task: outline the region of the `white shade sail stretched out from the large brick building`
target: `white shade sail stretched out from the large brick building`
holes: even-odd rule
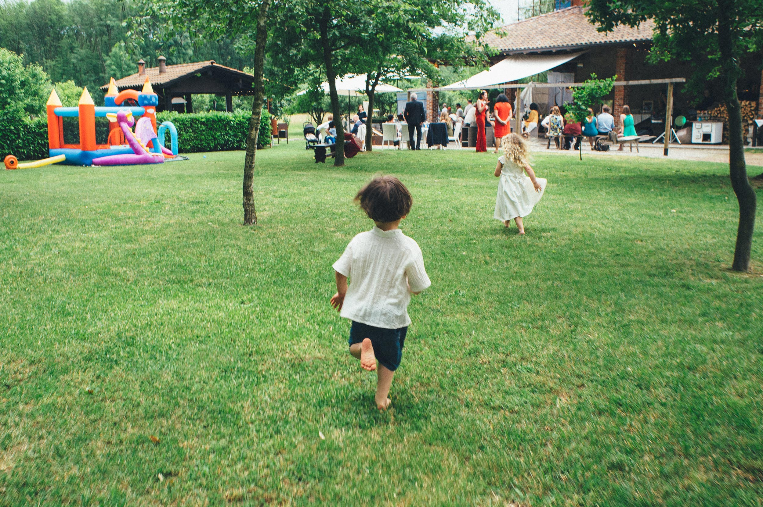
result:
[[[510,55],[500,62],[483,70],[471,78],[455,82],[452,85],[443,86],[441,90],[476,90],[492,85],[502,85],[507,82],[517,81],[530,75],[553,69],[567,63],[573,58],[581,56],[580,53],[567,53],[564,55]]]

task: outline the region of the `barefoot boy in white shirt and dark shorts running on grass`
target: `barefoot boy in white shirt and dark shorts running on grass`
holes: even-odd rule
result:
[[[331,306],[353,321],[349,353],[360,366],[374,371],[379,361],[376,406],[385,410],[392,403],[387,395],[410,325],[410,294],[419,294],[432,283],[419,245],[398,229],[413,204],[405,185],[391,176],[374,178],[355,200],[376,225],[355,236],[334,262],[336,294]]]

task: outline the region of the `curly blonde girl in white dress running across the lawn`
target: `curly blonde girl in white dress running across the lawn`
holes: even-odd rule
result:
[[[514,219],[521,235],[524,234],[522,218],[529,215],[543,197],[546,179],[535,177],[533,168],[527,162],[527,145],[521,136],[511,133],[504,137],[501,146],[504,156],[498,158],[498,165],[495,166],[495,177],[501,179],[498,180],[493,217],[507,227]]]

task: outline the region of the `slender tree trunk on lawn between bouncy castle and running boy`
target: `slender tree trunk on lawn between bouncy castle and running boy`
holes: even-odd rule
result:
[[[257,211],[254,207],[254,158],[257,154],[257,138],[259,136],[259,120],[262,117],[262,98],[265,95],[265,84],[262,75],[265,69],[265,45],[268,41],[268,9],[272,0],[262,0],[257,14],[256,47],[254,50],[254,100],[252,101],[252,116],[249,119],[249,136],[246,137],[246,157],[243,162],[243,224],[245,226],[257,223]]]

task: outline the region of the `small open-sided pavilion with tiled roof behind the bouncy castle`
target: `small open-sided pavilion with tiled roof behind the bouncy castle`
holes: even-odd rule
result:
[[[233,95],[253,95],[254,76],[231,67],[218,65],[214,60],[195,63],[166,65],[166,59],[159,56],[159,66],[146,69],[143,60],[138,62],[138,72],[116,81],[117,88],[140,90],[146,78],[159,95],[159,104],[172,109],[172,98],[185,96],[185,110],[192,111],[192,94],[225,95],[227,109],[232,111]],[[106,90],[108,84],[101,86]]]

